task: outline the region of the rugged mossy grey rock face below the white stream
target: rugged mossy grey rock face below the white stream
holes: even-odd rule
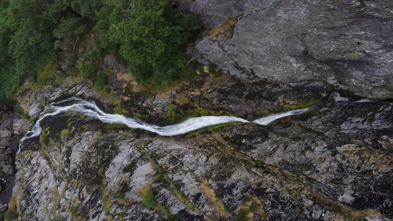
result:
[[[51,140],[29,140],[17,158],[18,211],[26,221],[387,221],[392,108],[328,102],[270,126],[174,137],[49,116]]]

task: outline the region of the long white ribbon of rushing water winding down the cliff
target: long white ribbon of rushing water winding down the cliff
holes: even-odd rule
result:
[[[60,105],[61,103],[65,103],[68,101],[74,101],[75,103],[67,106],[57,106]],[[40,127],[40,122],[42,119],[44,119],[46,116],[54,116],[56,114],[65,113],[65,112],[67,114],[81,113],[86,116],[90,116],[92,118],[101,120],[102,122],[105,123],[110,123],[110,124],[119,123],[119,124],[126,125],[129,128],[144,129],[147,131],[157,133],[161,136],[173,136],[178,134],[185,134],[190,131],[195,131],[197,129],[201,129],[204,127],[209,127],[211,125],[217,125],[221,123],[244,122],[244,123],[258,123],[261,125],[268,125],[269,123],[279,118],[290,116],[290,115],[301,114],[310,109],[312,108],[291,110],[283,113],[272,114],[270,116],[266,116],[254,120],[253,122],[249,122],[242,118],[237,118],[233,116],[202,116],[197,118],[190,118],[182,123],[178,123],[175,125],[159,127],[153,124],[141,122],[138,118],[126,118],[125,116],[120,114],[107,114],[103,112],[101,109],[99,109],[97,105],[95,105],[94,101],[85,101],[78,98],[69,98],[63,101],[59,101],[57,103],[50,103],[45,107],[44,111],[40,114],[40,118],[35,123],[33,129],[29,131],[22,139],[20,139],[18,153],[23,147],[22,143],[24,142],[24,140],[35,136],[39,136],[41,134],[42,130]]]

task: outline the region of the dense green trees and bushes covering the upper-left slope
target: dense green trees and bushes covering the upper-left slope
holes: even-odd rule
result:
[[[25,77],[44,84],[59,61],[96,89],[107,84],[99,65],[107,53],[142,84],[187,78],[195,65],[185,44],[201,22],[167,0],[1,0],[0,11],[0,103],[12,101]],[[92,53],[78,55],[93,33]]]

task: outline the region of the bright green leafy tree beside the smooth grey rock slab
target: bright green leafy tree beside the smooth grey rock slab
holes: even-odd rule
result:
[[[180,76],[189,62],[181,48],[188,32],[200,28],[200,23],[172,13],[167,0],[125,2],[130,4],[105,1],[99,11],[95,29],[100,31],[101,46],[119,45],[138,82],[162,84]]]

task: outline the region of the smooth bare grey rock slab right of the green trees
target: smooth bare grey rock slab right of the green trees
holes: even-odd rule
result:
[[[209,28],[239,16],[231,39],[219,28],[196,45],[195,58],[242,81],[314,79],[369,98],[393,98],[390,0],[172,2]]]

